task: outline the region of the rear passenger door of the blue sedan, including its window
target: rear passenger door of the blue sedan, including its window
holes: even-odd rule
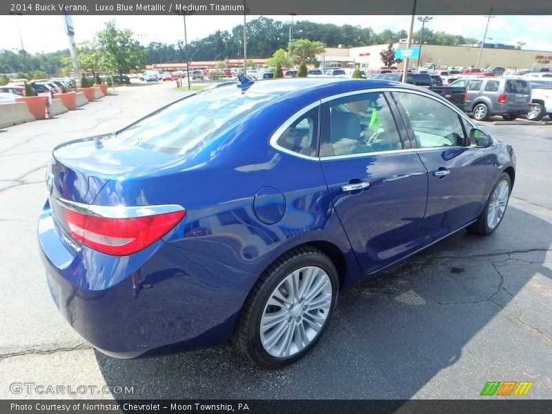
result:
[[[355,92],[322,106],[322,171],[366,273],[415,248],[426,208],[426,169],[389,98]]]

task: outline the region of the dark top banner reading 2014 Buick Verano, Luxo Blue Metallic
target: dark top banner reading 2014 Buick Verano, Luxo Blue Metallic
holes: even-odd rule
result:
[[[2,0],[0,14],[409,15],[413,0]],[[417,14],[548,15],[550,0],[417,0]]]

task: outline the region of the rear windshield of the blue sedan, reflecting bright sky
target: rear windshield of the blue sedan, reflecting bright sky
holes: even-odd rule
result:
[[[274,98],[273,95],[243,93],[235,86],[200,92],[119,131],[116,139],[172,154],[195,152]]]

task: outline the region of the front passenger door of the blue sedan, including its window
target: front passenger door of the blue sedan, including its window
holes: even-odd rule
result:
[[[426,170],[428,200],[417,243],[462,228],[482,210],[488,164],[471,147],[462,116],[446,103],[416,92],[393,92]]]

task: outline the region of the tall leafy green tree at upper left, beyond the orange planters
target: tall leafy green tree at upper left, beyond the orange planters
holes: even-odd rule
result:
[[[97,33],[102,68],[117,72],[121,78],[125,72],[141,68],[146,62],[146,51],[137,40],[132,39],[132,34],[129,29],[117,29],[112,20],[107,21],[106,28]]]

